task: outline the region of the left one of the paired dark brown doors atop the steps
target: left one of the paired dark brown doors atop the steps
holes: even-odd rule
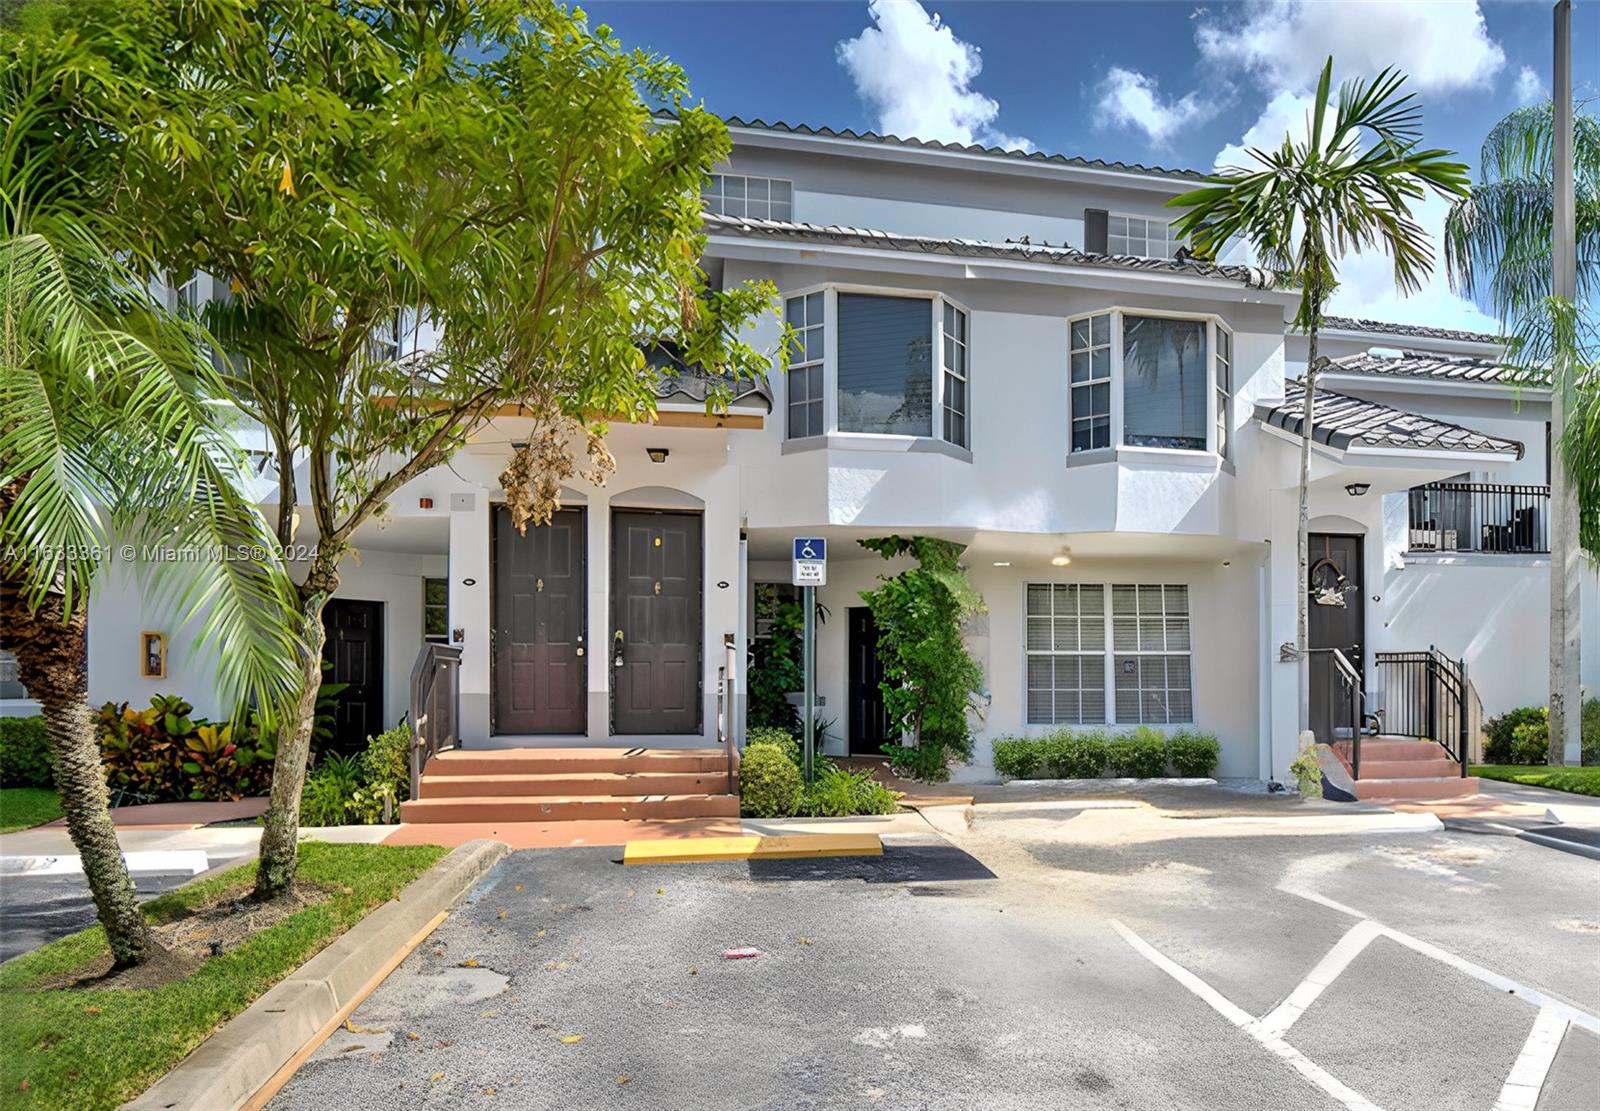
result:
[[[494,732],[582,733],[584,511],[518,533],[494,511]]]

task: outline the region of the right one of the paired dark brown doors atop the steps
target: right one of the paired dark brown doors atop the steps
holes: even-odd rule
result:
[[[611,732],[698,733],[701,519],[611,519]]]

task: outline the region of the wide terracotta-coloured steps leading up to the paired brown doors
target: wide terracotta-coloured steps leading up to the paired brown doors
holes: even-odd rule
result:
[[[453,749],[422,768],[406,823],[738,818],[722,749]]]

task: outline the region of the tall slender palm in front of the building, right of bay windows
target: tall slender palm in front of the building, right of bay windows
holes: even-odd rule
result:
[[[1382,251],[1394,261],[1395,285],[1403,293],[1419,290],[1432,272],[1434,251],[1411,205],[1429,192],[1451,197],[1467,191],[1467,166],[1453,162],[1453,152],[1421,146],[1422,107],[1414,93],[1402,93],[1403,74],[1386,69],[1371,82],[1341,83],[1330,118],[1331,82],[1333,58],[1322,67],[1306,139],[1285,134],[1274,150],[1253,149],[1254,168],[1227,166],[1168,202],[1187,210],[1176,231],[1198,256],[1216,258],[1227,242],[1243,239],[1262,266],[1301,288],[1294,315],[1307,338],[1296,634],[1301,732],[1310,722],[1307,487],[1323,307],[1338,288],[1339,263],[1352,251]]]

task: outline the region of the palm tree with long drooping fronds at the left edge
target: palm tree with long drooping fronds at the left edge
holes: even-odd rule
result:
[[[88,594],[126,544],[211,552],[157,564],[152,591],[178,623],[200,618],[197,650],[218,660],[219,687],[269,717],[294,677],[291,596],[238,493],[242,459],[211,403],[221,387],[202,335],[162,309],[91,218],[30,200],[27,170],[0,166],[0,629],[43,711],[67,831],[126,967],[155,941],[107,810]]]

